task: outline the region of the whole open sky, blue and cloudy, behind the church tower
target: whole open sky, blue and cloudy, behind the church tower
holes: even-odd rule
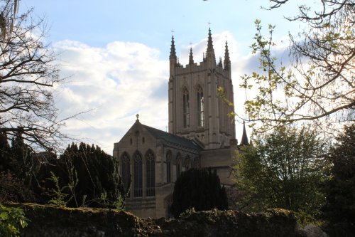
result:
[[[261,6],[268,6],[267,0],[21,0],[20,11],[33,6],[35,16],[48,23],[47,40],[58,53],[61,76],[68,77],[55,88],[60,116],[90,110],[68,120],[64,132],[111,154],[136,113],[142,123],[160,130],[168,124],[172,30],[182,64],[187,64],[190,46],[195,62],[202,60],[209,26],[217,58],[223,56],[224,41],[229,42],[236,112],[242,113],[240,76],[258,70],[250,48],[253,22],[276,25],[278,56],[287,60],[288,32],[300,31],[297,23],[283,18],[297,13],[292,4],[266,11]],[[236,128],[241,139],[241,124]]]

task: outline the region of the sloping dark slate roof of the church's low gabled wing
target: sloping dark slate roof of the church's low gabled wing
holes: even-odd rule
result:
[[[171,142],[173,144],[178,144],[182,147],[187,147],[190,149],[195,149],[197,151],[202,150],[202,148],[194,141],[190,140],[190,139],[186,139],[184,137],[179,137],[177,135],[173,135],[169,132],[164,132],[162,130],[157,130],[154,127],[149,127],[147,125],[142,125],[144,128],[146,128],[146,130],[148,130],[148,132],[151,133],[151,135],[153,135],[153,137],[155,137],[156,139],[164,139],[166,142]]]

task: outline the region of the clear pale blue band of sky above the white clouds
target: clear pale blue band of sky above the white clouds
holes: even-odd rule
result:
[[[213,33],[231,32],[241,51],[248,51],[253,21],[277,25],[276,36],[285,36],[294,25],[283,16],[293,16],[296,7],[266,11],[261,6],[269,6],[267,0],[21,0],[21,5],[33,6],[38,16],[46,17],[51,41],[70,39],[99,47],[111,41],[139,42],[159,48],[162,59],[172,30],[177,46],[184,46],[204,38],[209,22]]]

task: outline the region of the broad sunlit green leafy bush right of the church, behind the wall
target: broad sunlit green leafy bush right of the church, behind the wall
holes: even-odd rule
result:
[[[241,149],[236,167],[240,209],[283,208],[319,214],[324,204],[324,142],[306,127],[280,127]]]

